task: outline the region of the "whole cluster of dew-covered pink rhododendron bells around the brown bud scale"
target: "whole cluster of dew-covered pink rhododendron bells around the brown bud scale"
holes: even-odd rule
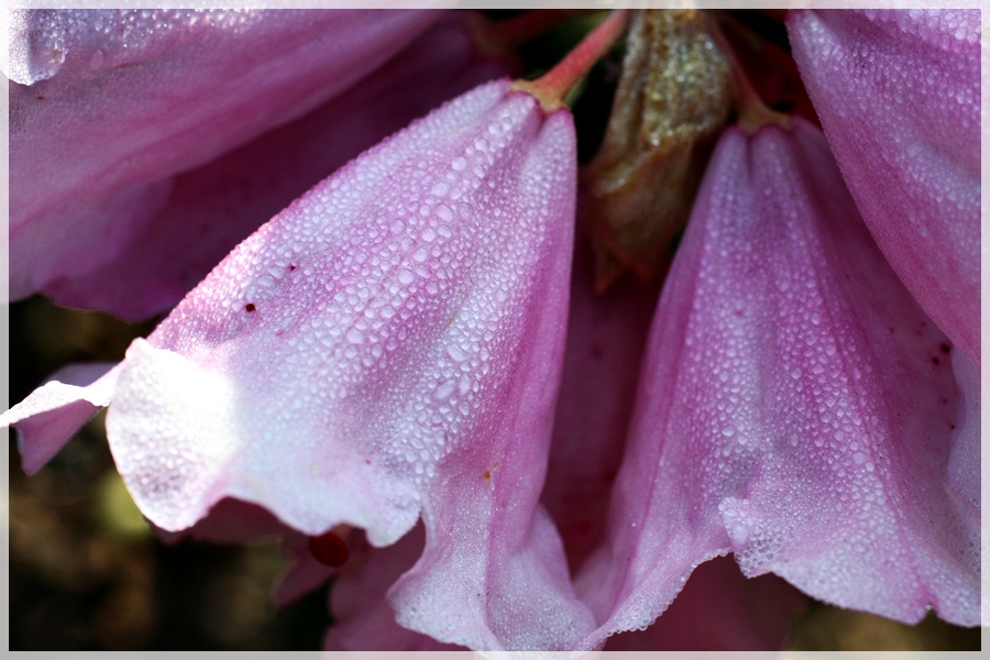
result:
[[[280,535],[296,558],[280,602],[337,575],[330,649],[773,648],[794,587],[980,623],[978,14],[791,12],[824,133],[768,110],[717,22],[692,14],[732,63],[736,125],[672,261],[647,264],[662,284],[602,296],[563,98],[625,12],[539,80],[480,85],[322,180],[504,64],[446,19],[372,73],[436,16],[319,15],[151,14],[167,29],[113,75],[129,50],[92,44],[130,32],[56,12],[18,42],[33,64],[12,75],[34,84],[13,86],[16,295],[139,318],[205,275],[121,363],[66,367],[0,416],[28,471],[109,405],[117,466],[164,539]],[[264,47],[249,57],[244,34]],[[442,35],[459,36],[437,62]],[[309,79],[344,45],[387,52]],[[107,153],[64,177],[34,155],[79,128],[50,96],[92,94],[99,116],[114,76],[155,90],[206,51],[176,109],[128,107]],[[196,102],[229,67],[270,87]],[[396,125],[359,129],[396,94]],[[231,108],[251,121],[226,125]],[[73,248],[90,252],[69,263]]]

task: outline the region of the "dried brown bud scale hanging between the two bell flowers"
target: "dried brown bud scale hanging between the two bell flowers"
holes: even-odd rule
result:
[[[695,10],[636,14],[598,155],[585,173],[597,286],[654,277],[729,117],[729,65]]]

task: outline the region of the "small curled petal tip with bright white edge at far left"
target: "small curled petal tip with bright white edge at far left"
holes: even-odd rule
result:
[[[119,373],[116,363],[69,364],[0,415],[0,428],[12,426],[18,430],[24,472],[34,474],[41,470],[110,403]]]

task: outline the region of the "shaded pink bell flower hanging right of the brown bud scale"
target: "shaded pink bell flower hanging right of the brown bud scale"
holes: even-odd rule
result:
[[[979,518],[944,486],[948,350],[824,135],[727,131],[653,321],[608,543],[578,578],[602,624],[582,647],[728,551],[840,606],[976,625]]]

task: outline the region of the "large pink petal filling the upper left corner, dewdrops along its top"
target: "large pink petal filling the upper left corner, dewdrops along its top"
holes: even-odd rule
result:
[[[11,296],[106,265],[164,207],[169,177],[343,91],[437,15],[13,12]]]

